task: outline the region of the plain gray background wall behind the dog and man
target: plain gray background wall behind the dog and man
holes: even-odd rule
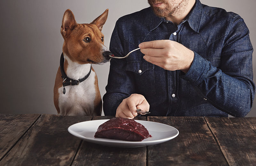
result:
[[[256,48],[255,0],[201,2],[236,12],[244,18],[252,45]],[[147,0],[1,0],[0,113],[57,114],[53,104],[53,86],[63,44],[61,20],[66,9],[73,11],[77,23],[89,23],[108,8],[108,20],[102,30],[108,47],[116,20],[148,6]],[[109,63],[93,67],[102,97]],[[256,102],[247,116],[256,116]]]

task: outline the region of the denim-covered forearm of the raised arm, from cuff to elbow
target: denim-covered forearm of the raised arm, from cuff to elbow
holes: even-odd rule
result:
[[[189,81],[202,98],[232,116],[244,117],[252,108],[252,76],[229,76],[195,53],[191,70],[181,78]]]

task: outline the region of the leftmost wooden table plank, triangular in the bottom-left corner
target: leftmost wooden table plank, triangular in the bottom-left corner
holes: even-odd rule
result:
[[[0,161],[35,123],[40,114],[0,114]]]

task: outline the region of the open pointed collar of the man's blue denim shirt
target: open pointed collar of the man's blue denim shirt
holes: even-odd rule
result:
[[[150,8],[150,14],[151,16],[151,27],[149,27],[150,31],[153,31],[156,29],[163,21],[165,21],[164,18],[160,18],[156,16]],[[199,32],[199,27],[200,27],[200,20],[201,20],[201,15],[202,15],[202,4],[199,0],[196,0],[195,5],[193,6],[192,10],[189,12],[187,18],[185,20],[188,21],[189,26],[195,31]]]

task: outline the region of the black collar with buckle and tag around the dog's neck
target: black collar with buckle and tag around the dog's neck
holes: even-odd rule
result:
[[[84,76],[84,78],[81,78],[79,80],[74,80],[74,79],[68,78],[68,76],[66,75],[66,73],[64,71],[64,55],[62,53],[60,56],[60,71],[61,71],[61,77],[63,79],[63,82],[62,82],[63,87],[68,86],[68,85],[78,85],[79,83],[83,82],[84,80],[86,80],[89,77],[89,75],[91,74],[91,71],[92,71],[92,65],[91,65],[89,73],[86,76]],[[64,93],[64,90],[63,90],[63,93]]]

